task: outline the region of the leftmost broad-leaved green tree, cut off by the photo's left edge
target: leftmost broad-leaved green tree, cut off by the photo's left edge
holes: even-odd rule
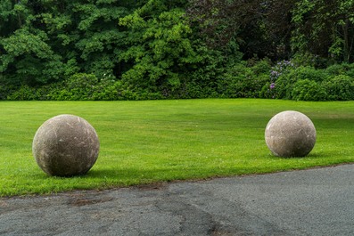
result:
[[[12,84],[46,83],[58,79],[64,68],[61,56],[52,50],[46,32],[34,27],[37,15],[30,6],[35,3],[7,1],[1,4],[5,10],[2,21],[9,24],[1,28],[0,72]]]

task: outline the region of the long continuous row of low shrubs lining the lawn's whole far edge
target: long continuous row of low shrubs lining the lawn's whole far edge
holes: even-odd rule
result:
[[[203,74],[202,72],[208,73]],[[8,86],[0,81],[0,100],[157,100],[193,98],[268,98],[296,101],[354,100],[354,64],[327,69],[296,68],[292,61],[235,63],[180,75],[178,85],[138,88],[113,76],[97,78],[75,74],[62,82],[43,86]]]

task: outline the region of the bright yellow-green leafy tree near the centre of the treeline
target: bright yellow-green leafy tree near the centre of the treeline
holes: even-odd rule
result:
[[[119,54],[119,60],[132,65],[122,80],[132,90],[174,91],[185,72],[202,61],[193,47],[183,5],[184,1],[149,0],[120,19],[119,25],[128,28],[128,37],[127,51]]]

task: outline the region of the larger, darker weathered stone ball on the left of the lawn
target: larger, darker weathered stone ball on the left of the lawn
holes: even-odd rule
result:
[[[84,175],[98,158],[100,143],[95,128],[84,118],[59,115],[37,130],[32,152],[47,175]]]

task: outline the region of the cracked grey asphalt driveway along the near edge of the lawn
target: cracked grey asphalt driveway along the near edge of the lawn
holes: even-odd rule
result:
[[[1,235],[354,235],[354,165],[0,199]]]

